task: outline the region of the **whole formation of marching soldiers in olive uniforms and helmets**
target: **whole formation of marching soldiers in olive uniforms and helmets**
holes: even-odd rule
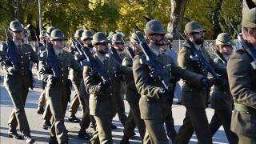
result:
[[[8,122],[9,136],[35,142],[24,110],[29,88],[33,88],[30,63],[34,62],[38,63],[42,82],[38,114],[43,114],[42,127],[50,130],[50,144],[68,143],[64,117],[72,86],[75,94],[68,120],[79,122],[78,138],[90,139],[90,143],[113,143],[111,130],[116,126],[112,119],[118,114],[124,126],[120,143],[129,143],[137,127],[143,143],[169,143],[170,138],[174,144],[187,144],[195,132],[198,143],[210,144],[223,126],[231,144],[256,144],[255,15],[256,8],[243,14],[244,35],[238,38],[238,50],[233,50],[234,41],[229,34],[218,35],[216,59],[203,45],[206,30],[198,22],[188,22],[178,63],[167,54],[171,41],[155,19],[146,23],[144,34],[134,30],[130,46],[121,33],[110,38],[102,32],[77,30],[70,38],[70,48],[64,49],[64,34],[50,27],[40,34],[38,52],[24,43],[22,24],[10,22],[13,38],[6,39],[0,47],[7,52],[1,55],[1,66],[6,71],[4,83],[14,105]],[[208,73],[213,78],[208,78]],[[180,78],[184,82],[182,105],[186,107],[186,117],[176,132],[171,107],[174,86]],[[210,106],[214,116],[209,123],[206,95],[213,85]],[[124,95],[130,106],[128,116]],[[80,105],[81,121],[75,116]],[[89,127],[94,129],[92,135],[86,133]]]

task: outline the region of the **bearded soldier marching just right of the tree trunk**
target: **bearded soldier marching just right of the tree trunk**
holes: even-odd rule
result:
[[[214,63],[210,55],[203,47],[205,29],[192,21],[186,24],[185,33],[187,36],[186,43],[178,54],[178,64],[185,70],[202,74],[207,77],[208,72],[198,64],[198,60],[194,60],[194,51],[198,50],[198,54],[202,56],[205,62],[213,66],[214,70],[220,75],[226,74],[226,69]],[[199,56],[200,56],[199,55]],[[198,56],[198,57],[199,57]],[[214,80],[215,85],[222,83],[222,79]],[[182,88],[182,105],[186,106],[186,117],[183,120],[183,125],[178,130],[178,134],[174,140],[176,144],[185,144],[190,142],[190,138],[195,131],[199,143],[212,143],[210,128],[206,117],[206,88],[198,88],[196,85],[191,85],[190,82],[185,82]]]

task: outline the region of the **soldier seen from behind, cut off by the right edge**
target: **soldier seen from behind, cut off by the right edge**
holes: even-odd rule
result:
[[[238,143],[256,143],[256,8],[242,15],[245,44],[227,63],[230,91],[234,99],[231,130]],[[248,53],[247,51],[250,51]]]

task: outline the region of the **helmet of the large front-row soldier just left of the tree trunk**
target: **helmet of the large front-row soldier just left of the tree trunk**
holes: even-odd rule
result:
[[[145,34],[166,34],[166,30],[162,27],[161,22],[156,19],[146,22],[144,32]]]

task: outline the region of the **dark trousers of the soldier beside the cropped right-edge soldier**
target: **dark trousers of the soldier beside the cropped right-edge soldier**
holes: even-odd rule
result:
[[[231,110],[215,110],[214,116],[210,121],[210,132],[213,136],[218,131],[218,128],[223,126],[230,144],[237,144],[238,136],[230,130],[231,115]]]

